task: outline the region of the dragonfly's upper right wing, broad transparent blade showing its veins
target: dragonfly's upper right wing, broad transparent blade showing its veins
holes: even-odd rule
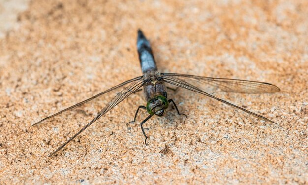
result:
[[[225,92],[238,92],[238,93],[274,93],[279,92],[280,89],[272,84],[266,82],[256,82],[248,80],[237,80],[228,78],[212,78],[203,76],[194,76],[188,74],[177,73],[162,73],[164,76],[173,76],[178,79],[185,80],[197,87],[204,88],[204,85],[214,86]]]

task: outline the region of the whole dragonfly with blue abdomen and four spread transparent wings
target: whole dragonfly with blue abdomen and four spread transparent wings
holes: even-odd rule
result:
[[[280,89],[272,85],[270,83],[266,82],[257,82],[257,81],[248,81],[248,80],[238,80],[238,79],[229,79],[229,78],[212,78],[212,77],[203,77],[203,76],[195,76],[195,75],[189,75],[189,74],[178,74],[178,73],[161,73],[158,72],[156,62],[154,60],[154,55],[150,46],[149,40],[145,37],[143,32],[138,29],[138,36],[137,36],[137,50],[139,55],[139,61],[141,64],[141,70],[143,75],[135,77],[133,79],[127,80],[119,85],[116,85],[104,92],[101,92],[99,94],[96,94],[84,101],[81,101],[73,106],[70,106],[66,109],[63,109],[60,112],[57,112],[51,116],[48,116],[41,121],[34,123],[32,126],[37,125],[39,123],[42,123],[50,118],[53,118],[65,111],[74,109],[76,107],[79,107],[97,97],[102,96],[103,94],[106,94],[107,92],[111,92],[113,90],[122,88],[120,92],[116,94],[115,97],[113,97],[107,105],[101,109],[101,111],[95,116],[91,122],[87,123],[84,127],[82,127],[76,134],[74,134],[72,137],[70,137],[67,141],[65,141],[61,146],[59,146],[54,152],[49,154],[49,156],[53,156],[57,152],[59,152],[63,147],[65,147],[69,142],[71,142],[74,138],[76,138],[80,133],[82,133],[85,129],[87,129],[92,123],[96,122],[98,119],[100,119],[102,116],[104,116],[107,112],[109,112],[111,109],[113,109],[115,106],[117,106],[119,103],[121,103],[124,99],[126,99],[128,96],[130,96],[132,93],[138,92],[143,89],[144,97],[147,102],[146,106],[140,105],[137,108],[137,111],[134,116],[134,120],[130,123],[134,123],[136,121],[137,114],[140,109],[144,109],[147,111],[148,116],[140,123],[140,127],[142,130],[142,133],[145,137],[145,144],[147,145],[147,139],[148,136],[146,135],[143,125],[146,123],[150,118],[153,116],[163,116],[169,107],[169,105],[172,103],[174,105],[174,108],[176,109],[177,113],[179,115],[184,115],[179,112],[179,109],[173,99],[168,99],[167,96],[167,89],[168,85],[176,86],[177,88],[184,88],[187,90],[190,90],[192,92],[197,92],[199,94],[202,94],[206,97],[215,99],[217,101],[220,101],[226,105],[229,105],[233,108],[240,109],[258,119],[275,123],[274,121],[261,116],[259,114],[256,114],[254,112],[251,112],[249,110],[246,110],[243,107],[237,106],[235,104],[232,104],[228,101],[225,101],[223,99],[220,99],[205,90],[201,87],[201,85],[210,85],[215,88],[218,88],[224,92],[237,92],[237,93],[274,93],[279,92]],[[172,89],[172,88],[170,88]],[[275,123],[277,124],[277,123]],[[277,124],[278,125],[278,124]]]

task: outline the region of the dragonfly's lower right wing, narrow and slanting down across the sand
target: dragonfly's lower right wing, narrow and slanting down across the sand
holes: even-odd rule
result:
[[[272,120],[269,120],[269,119],[267,119],[267,118],[265,118],[265,117],[263,117],[263,116],[261,116],[261,115],[258,115],[258,114],[256,114],[256,113],[253,113],[253,112],[251,112],[251,111],[248,111],[248,110],[246,110],[246,109],[244,109],[244,108],[242,108],[242,107],[239,107],[239,106],[234,105],[234,104],[232,104],[232,103],[229,103],[229,102],[227,102],[227,101],[225,101],[225,100],[223,100],[223,99],[217,98],[216,96],[213,96],[213,95],[211,95],[211,94],[209,94],[209,93],[207,93],[207,92],[204,92],[204,91],[202,91],[201,89],[199,89],[198,87],[193,86],[193,85],[191,85],[191,84],[185,82],[184,80],[181,80],[181,79],[179,79],[179,78],[177,78],[177,77],[175,77],[175,76],[163,76],[162,79],[163,79],[163,81],[165,81],[165,82],[167,82],[167,83],[170,83],[170,84],[173,84],[173,85],[176,85],[176,86],[179,86],[179,87],[188,89],[188,90],[193,91],[193,92],[198,92],[198,93],[203,94],[203,95],[205,95],[205,96],[208,96],[208,97],[210,97],[210,98],[216,99],[217,101],[220,101],[220,102],[222,102],[222,103],[225,103],[225,104],[227,104],[227,105],[229,105],[229,106],[231,106],[231,107],[240,109],[240,110],[242,110],[242,111],[244,111],[244,112],[246,112],[246,113],[248,113],[248,114],[250,114],[250,115],[252,115],[252,116],[254,116],[254,117],[256,117],[256,118],[259,118],[259,119],[262,119],[262,120],[264,120],[264,121],[268,121],[268,122],[271,122],[271,123],[275,123],[275,122],[273,122]],[[275,123],[275,124],[277,124],[277,123]],[[278,125],[278,124],[277,124],[277,125]]]

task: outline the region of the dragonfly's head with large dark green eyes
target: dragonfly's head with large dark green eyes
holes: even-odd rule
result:
[[[168,108],[169,102],[165,96],[158,95],[150,99],[147,103],[147,111],[151,115],[163,116]]]

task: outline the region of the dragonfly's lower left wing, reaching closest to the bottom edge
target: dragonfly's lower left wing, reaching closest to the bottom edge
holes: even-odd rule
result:
[[[137,91],[144,85],[144,80],[139,79],[137,82],[130,84],[128,87],[124,88],[121,92],[119,92],[99,113],[98,115],[88,124],[86,124],[81,130],[79,130],[75,135],[73,135],[70,139],[68,139],[65,143],[63,143],[57,150],[51,153],[49,156],[56,154],[59,150],[61,150],[65,145],[67,145],[70,141],[72,141],[75,137],[77,137],[81,132],[87,129],[92,123],[122,102],[125,98],[127,98],[130,94]]]

